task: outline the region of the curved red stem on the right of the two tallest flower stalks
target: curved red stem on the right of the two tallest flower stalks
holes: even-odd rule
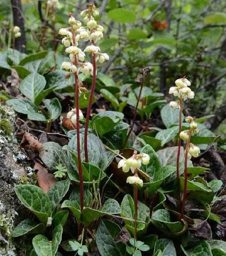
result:
[[[91,18],[91,10],[92,10],[92,4],[89,5],[89,20]],[[93,32],[93,30],[90,30],[90,34]],[[94,40],[92,40],[92,44],[95,45]],[[95,91],[95,84],[96,84],[96,54],[92,54],[92,64],[93,64],[93,79],[92,79],[92,86],[91,91],[89,95],[89,105],[86,113],[86,120],[85,120],[85,131],[84,131],[84,150],[85,150],[85,162],[88,163],[89,156],[88,156],[88,146],[87,146],[87,137],[88,137],[88,129],[89,129],[89,116],[93,104],[93,95]]]

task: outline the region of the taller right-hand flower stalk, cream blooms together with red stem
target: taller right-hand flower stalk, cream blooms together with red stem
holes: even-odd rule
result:
[[[179,130],[178,134],[181,132],[182,128],[182,110],[183,110],[183,100],[186,101],[187,98],[193,99],[194,92],[188,87],[191,85],[190,81],[186,77],[179,78],[175,81],[176,86],[172,86],[169,89],[169,94],[173,94],[175,97],[178,97],[178,101],[170,101],[170,107],[173,109],[179,108]],[[180,147],[181,147],[181,138],[178,138],[178,153],[177,153],[177,185],[179,193],[179,157],[180,157]]]

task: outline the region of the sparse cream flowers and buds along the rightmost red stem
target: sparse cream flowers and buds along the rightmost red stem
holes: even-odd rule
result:
[[[193,117],[191,116],[186,117],[185,122],[190,124],[190,130],[181,131],[179,136],[182,140],[187,141],[189,139],[190,132],[197,134],[199,130],[197,128],[197,123],[195,122],[195,119]],[[191,159],[191,156],[198,157],[199,154],[200,154],[199,147],[195,146],[192,143],[189,143],[188,159]]]

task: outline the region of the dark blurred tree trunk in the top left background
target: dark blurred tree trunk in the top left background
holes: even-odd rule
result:
[[[15,49],[24,53],[26,50],[26,36],[24,31],[24,15],[21,0],[11,0],[13,23],[20,28],[21,36],[15,38]]]

